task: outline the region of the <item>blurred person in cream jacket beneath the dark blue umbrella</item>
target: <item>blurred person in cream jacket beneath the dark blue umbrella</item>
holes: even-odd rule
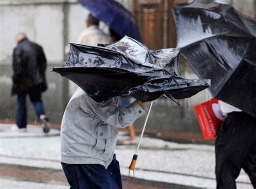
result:
[[[78,44],[97,46],[98,43],[111,43],[111,37],[99,29],[98,19],[91,14],[87,17],[86,26],[87,28],[78,36]]]

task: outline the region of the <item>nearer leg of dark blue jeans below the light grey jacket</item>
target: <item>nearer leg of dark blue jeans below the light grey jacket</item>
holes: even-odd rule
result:
[[[112,189],[103,165],[62,163],[62,168],[70,184],[70,189]]]

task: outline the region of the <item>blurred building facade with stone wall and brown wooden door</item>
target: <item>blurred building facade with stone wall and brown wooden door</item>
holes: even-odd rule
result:
[[[174,48],[176,33],[171,6],[190,3],[190,0],[122,0],[130,10],[142,31],[143,43],[150,50]],[[255,17],[256,1],[228,0],[234,8],[245,15]],[[75,85],[55,72],[53,66],[65,64],[64,46],[76,43],[78,34],[86,27],[89,11],[75,0],[1,0],[0,1],[0,119],[14,122],[16,119],[16,97],[10,96],[12,76],[12,50],[15,35],[25,32],[28,38],[42,45],[48,60],[46,78],[49,89],[43,93],[43,102],[50,122],[60,124],[66,104]],[[100,28],[108,31],[100,23]],[[197,79],[193,71],[180,59],[180,70],[186,78]],[[76,86],[75,86],[76,87]],[[206,100],[206,90],[189,99],[180,100],[181,107],[171,100],[158,99],[153,105],[147,133],[159,137],[179,138],[190,133],[190,141],[203,141],[193,106]],[[37,123],[36,114],[28,100],[29,122]],[[136,130],[143,126],[145,117],[136,121]]]

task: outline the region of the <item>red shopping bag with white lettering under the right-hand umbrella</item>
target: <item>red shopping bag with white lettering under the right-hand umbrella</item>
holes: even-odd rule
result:
[[[224,120],[218,101],[212,98],[207,102],[194,106],[201,131],[206,140],[217,136],[219,126]]]

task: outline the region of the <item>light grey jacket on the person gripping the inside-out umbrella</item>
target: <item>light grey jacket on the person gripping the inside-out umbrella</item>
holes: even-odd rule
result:
[[[66,106],[62,119],[61,161],[109,166],[118,127],[130,125],[144,112],[136,101],[119,109],[113,99],[103,104],[97,103],[78,88]]]

